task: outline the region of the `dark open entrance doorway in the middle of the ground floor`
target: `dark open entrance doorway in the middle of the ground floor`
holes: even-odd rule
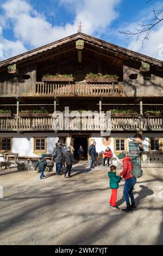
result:
[[[87,160],[87,150],[88,150],[88,136],[75,136],[73,139],[74,159],[79,160],[78,149],[82,145],[84,149],[84,159]]]

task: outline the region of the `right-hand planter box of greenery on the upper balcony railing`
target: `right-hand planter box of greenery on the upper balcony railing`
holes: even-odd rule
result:
[[[98,74],[89,73],[86,75],[85,80],[86,80],[86,82],[102,82],[102,83],[117,82],[118,76],[117,75],[109,75],[109,74],[102,75],[100,73],[98,73]]]

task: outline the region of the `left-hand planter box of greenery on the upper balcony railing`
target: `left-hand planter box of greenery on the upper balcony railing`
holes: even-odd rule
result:
[[[61,74],[55,74],[55,75],[43,75],[42,77],[43,82],[73,82],[74,78],[72,74],[70,75],[61,75]]]

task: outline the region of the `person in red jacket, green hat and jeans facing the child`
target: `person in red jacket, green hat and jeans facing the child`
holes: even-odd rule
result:
[[[131,157],[126,156],[123,153],[120,153],[118,155],[118,159],[120,159],[123,162],[123,170],[120,173],[120,175],[124,178],[124,190],[123,190],[123,196],[126,200],[127,208],[122,209],[124,212],[132,213],[134,209],[136,209],[135,205],[135,199],[133,194],[133,189],[136,183],[136,178],[132,175],[133,170],[133,164],[131,162]],[[131,204],[130,200],[131,199]]]

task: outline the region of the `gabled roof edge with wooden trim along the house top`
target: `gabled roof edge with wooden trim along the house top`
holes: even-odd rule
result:
[[[153,65],[156,65],[156,66],[159,66],[159,67],[163,68],[163,62],[161,60],[146,56],[146,55],[141,54],[141,53],[137,53],[137,52],[128,50],[126,48],[123,48],[123,47],[120,47],[120,46],[117,46],[117,45],[114,45],[114,44],[110,44],[110,42],[103,41],[101,39],[95,38],[95,37],[90,36],[90,35],[86,35],[84,33],[76,33],[76,34],[73,34],[71,36],[67,36],[64,39],[52,42],[51,44],[41,46],[39,48],[35,48],[32,51],[28,51],[28,52],[19,54],[15,57],[12,57],[12,58],[9,58],[9,59],[5,59],[2,62],[0,62],[0,68],[2,66],[7,66],[7,65],[10,65],[10,64],[14,64],[16,62],[20,62],[23,59],[27,59],[27,58],[30,59],[30,57],[33,57],[36,54],[40,54],[40,53],[46,52],[48,50],[54,49],[58,46],[67,44],[68,42],[72,42],[74,40],[77,40],[78,38],[83,39],[85,42],[87,42],[91,45],[95,45],[95,46],[98,46],[100,48],[103,48],[104,50],[108,50],[109,52],[119,53],[122,56],[128,56],[129,58],[135,59],[135,60],[140,60],[140,61],[143,60],[144,62],[147,62],[149,64],[153,64]]]

